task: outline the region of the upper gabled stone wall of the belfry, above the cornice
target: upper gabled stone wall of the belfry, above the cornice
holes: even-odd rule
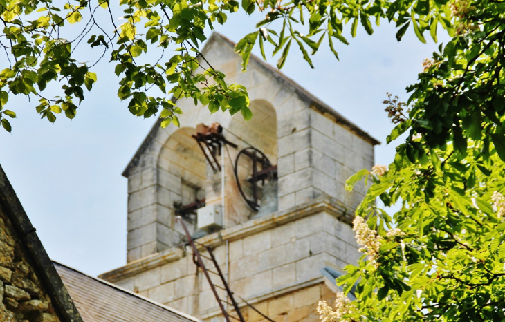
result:
[[[242,72],[241,57],[223,37],[211,37],[204,51],[230,84],[248,88],[253,118],[246,122],[240,114],[211,115],[207,106],[178,100],[184,111],[179,120],[187,127],[160,129],[159,124],[154,125],[123,173],[129,187],[127,262],[183,241],[173,205],[184,201],[185,184],[204,191],[209,204],[221,203],[221,173],[213,174],[209,165],[205,166],[207,162],[190,135],[200,123],[219,122],[226,138],[239,149],[255,146],[277,164],[279,211],[320,196],[329,196],[352,211],[364,196],[362,184],[355,191],[345,191],[345,180],[360,169],[371,169],[376,140],[254,57]],[[232,162],[239,149],[229,149]],[[250,220],[254,211],[239,194],[229,160],[225,160],[225,169],[225,220],[230,228]],[[244,171],[243,167],[239,171]]]

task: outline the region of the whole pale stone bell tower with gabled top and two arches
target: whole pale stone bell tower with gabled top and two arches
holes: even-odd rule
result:
[[[257,57],[241,72],[233,47],[214,32],[203,55],[248,88],[252,120],[181,100],[184,127],[154,124],[123,173],[127,265],[100,277],[223,321],[181,216],[237,296],[275,321],[318,321],[316,303],[338,292],[334,278],[360,257],[349,223],[365,187],[349,193],[345,180],[371,169],[378,142]],[[208,209],[221,211],[206,213],[212,225]],[[262,319],[239,306],[246,321]]]

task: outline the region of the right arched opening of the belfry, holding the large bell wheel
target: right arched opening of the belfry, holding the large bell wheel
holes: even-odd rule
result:
[[[238,145],[237,149],[229,149],[228,156],[237,173],[230,176],[233,180],[227,189],[232,197],[227,218],[232,224],[277,210],[277,116],[264,100],[252,101],[249,108],[252,119],[246,121],[242,115],[234,115],[225,134]]]

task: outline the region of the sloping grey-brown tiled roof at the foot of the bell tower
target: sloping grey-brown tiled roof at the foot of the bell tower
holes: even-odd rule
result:
[[[201,322],[118,285],[54,264],[84,322]]]

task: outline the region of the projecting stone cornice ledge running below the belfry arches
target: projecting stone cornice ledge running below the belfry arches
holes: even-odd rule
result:
[[[197,246],[199,248],[203,248],[201,245],[204,245],[205,247],[217,247],[222,245],[225,240],[238,240],[279,225],[284,225],[287,222],[298,220],[313,214],[318,214],[322,211],[327,212],[328,214],[331,214],[342,222],[346,222],[348,224],[350,224],[353,219],[352,212],[342,205],[342,203],[333,198],[322,196],[311,200],[310,202],[306,202],[303,205],[291,207],[290,209],[286,209],[284,211],[277,211],[268,216],[249,220],[241,225],[223,229],[217,233],[204,236],[198,239],[198,243],[200,245]],[[172,247],[158,254],[140,258],[137,261],[128,263],[125,266],[105,272],[98,277],[104,279],[105,281],[114,283],[122,280],[123,278],[140,274],[149,269],[177,261],[184,256],[184,245]]]

